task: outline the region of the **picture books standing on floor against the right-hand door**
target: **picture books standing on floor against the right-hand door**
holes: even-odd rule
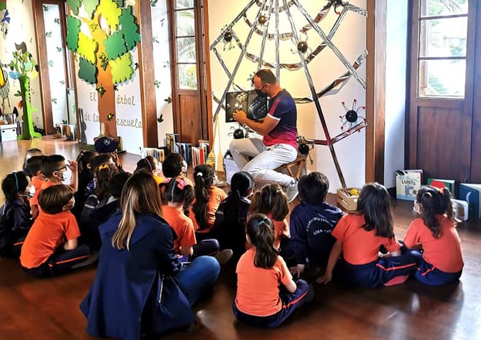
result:
[[[452,203],[456,215],[460,220],[481,218],[481,184],[459,183],[453,179],[432,179],[424,182],[423,170],[398,170],[396,171],[396,198],[398,200],[415,200],[417,190],[426,183],[433,187],[450,190]]]

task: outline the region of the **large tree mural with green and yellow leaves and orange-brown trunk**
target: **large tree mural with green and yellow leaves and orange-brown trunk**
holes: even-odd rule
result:
[[[140,42],[133,1],[67,0],[66,44],[79,58],[79,78],[95,86],[105,135],[116,135],[115,89],[132,78]]]

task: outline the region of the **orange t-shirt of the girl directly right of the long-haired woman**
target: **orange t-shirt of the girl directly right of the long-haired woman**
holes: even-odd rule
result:
[[[197,243],[194,224],[182,211],[182,208],[164,205],[162,207],[162,217],[174,229],[177,239],[174,239],[174,248],[177,254],[181,253],[182,248],[190,248]]]

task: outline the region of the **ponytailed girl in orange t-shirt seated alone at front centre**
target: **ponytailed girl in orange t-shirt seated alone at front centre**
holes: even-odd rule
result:
[[[314,297],[304,280],[294,282],[289,268],[274,248],[274,225],[262,213],[250,216],[247,241],[252,246],[237,263],[235,317],[246,324],[274,328],[304,302]],[[262,287],[262,289],[259,289]]]

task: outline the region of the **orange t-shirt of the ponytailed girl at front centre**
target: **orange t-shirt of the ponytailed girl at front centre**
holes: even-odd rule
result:
[[[260,317],[274,315],[282,309],[279,285],[288,285],[292,275],[280,256],[270,269],[256,267],[255,252],[255,247],[250,248],[242,254],[237,263],[235,306],[248,315]]]

